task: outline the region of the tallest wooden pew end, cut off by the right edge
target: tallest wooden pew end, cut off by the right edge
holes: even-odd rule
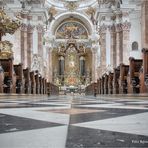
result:
[[[143,66],[140,70],[140,93],[148,93],[148,49],[142,49]]]

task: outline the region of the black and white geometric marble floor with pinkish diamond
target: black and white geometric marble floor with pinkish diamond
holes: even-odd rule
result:
[[[148,147],[148,96],[0,97],[0,148]]]

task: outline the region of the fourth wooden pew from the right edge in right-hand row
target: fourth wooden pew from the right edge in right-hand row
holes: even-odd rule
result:
[[[120,76],[120,67],[114,68],[113,72],[113,93],[119,94],[119,76]]]

